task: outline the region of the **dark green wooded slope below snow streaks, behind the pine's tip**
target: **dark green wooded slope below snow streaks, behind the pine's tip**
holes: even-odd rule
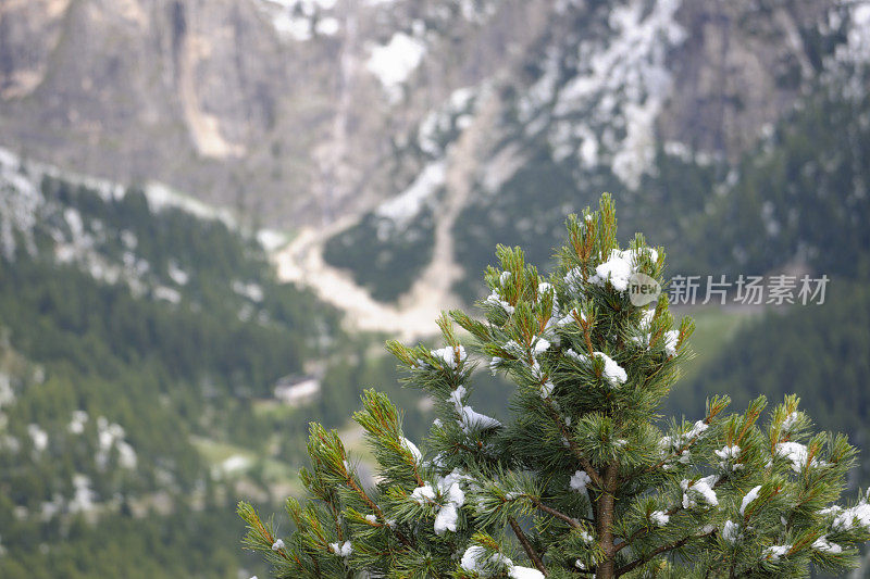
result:
[[[574,164],[554,162],[546,143],[531,146],[539,151],[536,158],[496,193],[478,191],[457,218],[456,255],[465,270],[457,290],[469,302],[481,295],[477,275],[490,263],[488,248],[496,243],[522,246],[530,261],[551,265],[550,248],[561,242],[561,222],[566,213],[594,201],[588,190],[618,191],[617,199],[624,201],[621,219],[629,230],[643,225],[658,242],[673,242],[691,225],[688,216],[704,207],[698,191],[710,191],[722,172],[717,164],[683,159],[659,147],[652,176],[646,175],[639,188],[643,193],[631,193],[607,168],[580,175]],[[674,223],[675,215],[685,216],[685,223]]]

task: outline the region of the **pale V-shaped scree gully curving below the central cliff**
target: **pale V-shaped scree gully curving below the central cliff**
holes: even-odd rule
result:
[[[356,219],[343,219],[327,228],[306,228],[275,255],[278,278],[306,285],[325,302],[347,313],[350,326],[386,331],[413,340],[438,331],[435,318],[444,310],[460,305],[451,288],[462,275],[453,259],[451,230],[471,193],[476,159],[487,144],[497,114],[496,101],[485,93],[474,119],[447,154],[446,198],[437,214],[432,261],[398,304],[378,302],[351,276],[323,261],[323,244]]]

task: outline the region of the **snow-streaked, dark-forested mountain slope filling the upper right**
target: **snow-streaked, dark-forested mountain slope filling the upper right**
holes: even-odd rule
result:
[[[867,114],[866,7],[563,9],[525,54],[524,81],[462,91],[421,125],[417,147],[433,151],[428,164],[399,197],[327,239],[328,264],[376,299],[412,303],[414,277],[440,260],[449,275],[435,277],[469,301],[482,291],[469,280],[496,243],[532,248],[546,262],[564,215],[602,190],[620,202],[623,232],[645,230],[669,247],[675,270],[733,270],[749,264],[742,253],[774,247],[754,272],[806,260],[821,251],[825,234],[812,240],[810,231],[822,222],[822,231],[846,225],[842,241],[861,247],[867,140],[855,119]],[[788,217],[804,201],[832,207]],[[775,243],[756,246],[775,237],[763,234],[771,219],[790,225]]]

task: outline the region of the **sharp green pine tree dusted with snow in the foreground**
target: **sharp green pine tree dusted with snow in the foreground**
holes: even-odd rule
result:
[[[812,433],[795,397],[766,416],[763,398],[725,415],[726,397],[697,421],[657,415],[693,324],[674,327],[666,294],[633,305],[629,284],[663,282],[664,254],[641,235],[618,248],[608,196],[567,228],[549,277],[499,247],[484,317],[443,316],[443,349],[387,343],[435,401],[424,452],[366,391],[355,419],[376,484],[312,424],[309,500],[287,500],[296,530],[279,539],[239,504],[246,545],[276,577],[804,577],[855,564],[870,503],[833,504],[855,462],[846,438]],[[510,420],[469,404],[470,352],[515,382]]]

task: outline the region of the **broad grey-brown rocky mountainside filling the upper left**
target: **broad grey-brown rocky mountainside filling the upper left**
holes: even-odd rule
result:
[[[495,5],[5,2],[0,143],[273,225],[328,222],[383,198],[396,136],[545,24],[536,7]]]

